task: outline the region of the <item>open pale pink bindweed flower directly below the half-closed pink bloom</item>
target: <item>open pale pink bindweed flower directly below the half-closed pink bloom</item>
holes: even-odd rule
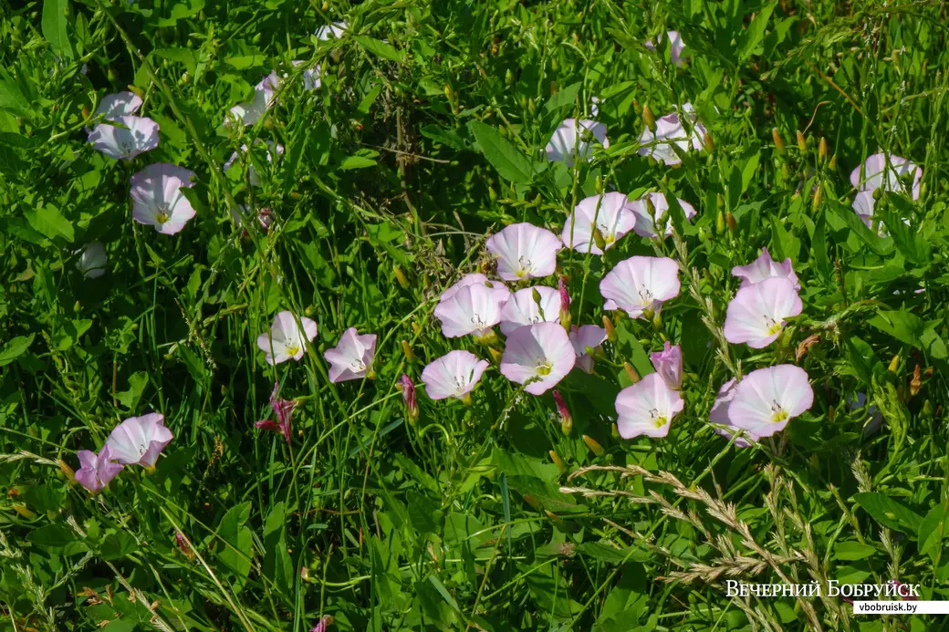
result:
[[[679,392],[669,388],[658,373],[650,373],[616,396],[620,437],[665,437],[684,407]]]

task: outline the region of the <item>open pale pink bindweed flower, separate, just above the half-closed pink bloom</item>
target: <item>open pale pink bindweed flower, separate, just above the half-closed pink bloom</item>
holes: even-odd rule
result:
[[[623,309],[642,318],[679,296],[679,265],[668,257],[634,256],[616,264],[600,282],[606,310]]]

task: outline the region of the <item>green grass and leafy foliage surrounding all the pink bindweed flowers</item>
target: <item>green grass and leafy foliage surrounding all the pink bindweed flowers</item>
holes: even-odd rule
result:
[[[945,11],[0,0],[0,629],[300,632],[324,616],[331,630],[937,629],[855,618],[839,598],[732,599],[725,581],[898,579],[947,597]],[[340,39],[312,36],[340,20]],[[668,29],[682,66],[642,46]],[[307,92],[315,64],[323,84]],[[274,69],[276,105],[224,127]],[[160,142],[126,162],[84,127],[129,85]],[[543,160],[594,96],[609,149],[572,170]],[[678,168],[637,156],[644,106],[685,102],[711,151]],[[256,188],[246,163],[221,172],[253,139],[286,148],[272,163],[253,152]],[[884,236],[849,208],[850,170],[878,151],[924,172],[919,200],[877,202]],[[129,177],[154,162],[197,175],[197,214],[176,235],[132,221]],[[611,188],[668,192],[698,215],[605,258],[561,251],[573,323],[615,313],[599,283],[632,255],[695,272],[661,321],[616,319],[597,375],[559,385],[572,431],[550,393],[524,394],[496,362],[470,405],[427,399],[426,363],[460,348],[491,360],[433,315],[464,273],[492,273],[486,238],[520,221],[559,235]],[[243,235],[240,204],[269,208],[270,232],[251,219]],[[86,280],[75,251],[93,240],[108,266]],[[762,247],[791,257],[804,311],[765,349],[719,343],[730,270]],[[319,333],[272,367],[255,341],[284,309]],[[379,336],[377,376],[333,384],[323,352],[350,326]],[[623,364],[651,372],[664,340],[683,349],[685,411],[668,437],[619,439]],[[750,449],[716,435],[718,387],[781,362],[808,371],[809,412]],[[253,425],[274,381],[300,400],[289,446]],[[880,432],[864,435],[857,393],[883,412]],[[127,467],[95,497],[67,481],[60,459],[78,468],[78,451],[150,411],[175,435],[154,474]]]

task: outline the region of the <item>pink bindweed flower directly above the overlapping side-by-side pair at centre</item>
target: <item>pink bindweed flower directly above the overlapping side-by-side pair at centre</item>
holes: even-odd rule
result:
[[[485,244],[497,258],[497,275],[505,281],[553,274],[557,251],[563,247],[557,235],[527,222],[506,227]]]

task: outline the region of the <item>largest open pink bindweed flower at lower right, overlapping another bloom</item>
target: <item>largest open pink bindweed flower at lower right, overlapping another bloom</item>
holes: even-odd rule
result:
[[[752,371],[738,382],[728,418],[756,437],[771,437],[813,403],[807,372],[793,364],[778,364]]]

